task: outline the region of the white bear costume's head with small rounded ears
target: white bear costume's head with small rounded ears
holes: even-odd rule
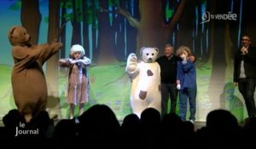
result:
[[[145,63],[152,63],[156,60],[159,54],[159,49],[143,47],[140,49],[141,58]]]

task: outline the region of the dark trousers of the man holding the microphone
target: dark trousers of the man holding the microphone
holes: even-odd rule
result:
[[[256,106],[254,100],[255,86],[256,80],[252,78],[241,78],[238,82],[238,89],[245,100],[249,117],[256,116]]]

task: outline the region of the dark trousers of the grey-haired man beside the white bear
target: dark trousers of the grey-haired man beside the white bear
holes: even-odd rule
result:
[[[174,83],[161,83],[161,106],[162,116],[166,115],[168,108],[168,100],[171,100],[171,112],[176,112],[177,105],[177,87]]]

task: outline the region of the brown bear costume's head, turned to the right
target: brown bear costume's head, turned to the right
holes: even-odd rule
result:
[[[9,43],[13,46],[28,46],[31,45],[31,36],[26,32],[26,28],[15,26],[9,29]]]

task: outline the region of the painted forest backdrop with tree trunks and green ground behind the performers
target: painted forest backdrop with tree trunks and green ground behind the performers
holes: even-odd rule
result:
[[[16,108],[10,76],[14,62],[7,32],[25,26],[32,43],[57,37],[64,47],[45,65],[50,114],[66,118],[67,69],[57,61],[67,58],[73,44],[84,46],[89,68],[90,101],[106,104],[121,120],[131,113],[131,81],[125,74],[128,54],[153,46],[187,45],[197,57],[196,120],[205,121],[217,108],[230,110],[241,121],[244,101],[232,86],[233,52],[241,33],[256,42],[256,16],[249,0],[3,0],[0,1],[0,118]],[[178,109],[177,109],[178,111]]]

